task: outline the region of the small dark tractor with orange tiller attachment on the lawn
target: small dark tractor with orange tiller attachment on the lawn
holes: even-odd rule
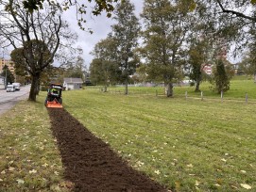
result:
[[[45,106],[47,108],[62,108],[61,98],[62,86],[60,84],[51,84],[48,88]]]

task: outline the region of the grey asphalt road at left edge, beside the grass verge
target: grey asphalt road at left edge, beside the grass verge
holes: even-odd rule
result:
[[[0,89],[0,115],[9,110],[17,102],[26,100],[30,86],[21,87],[21,90],[7,92],[6,89]]]

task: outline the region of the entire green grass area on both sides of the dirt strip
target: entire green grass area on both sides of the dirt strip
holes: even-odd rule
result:
[[[174,98],[163,88],[156,97],[156,88],[129,88],[125,96],[124,88],[86,87],[64,91],[63,105],[130,166],[173,191],[255,191],[255,85],[233,80],[223,102],[208,87],[203,101],[190,87],[175,88]],[[68,190],[45,95],[0,117],[0,191]]]

